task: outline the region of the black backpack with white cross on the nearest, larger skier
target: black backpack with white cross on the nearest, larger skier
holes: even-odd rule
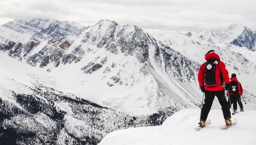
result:
[[[216,65],[219,63],[220,60],[208,60],[207,62],[205,62],[205,77],[204,77],[204,81],[207,85],[213,85],[216,84],[216,75],[215,75],[215,71],[216,71]]]

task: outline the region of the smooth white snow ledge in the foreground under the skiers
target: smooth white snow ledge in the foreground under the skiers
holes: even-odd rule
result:
[[[109,133],[98,145],[255,145],[256,111],[239,112],[232,117],[238,123],[221,130],[225,124],[221,110],[211,110],[212,123],[200,131],[196,127],[200,109],[183,109],[168,117],[161,126],[128,128]]]

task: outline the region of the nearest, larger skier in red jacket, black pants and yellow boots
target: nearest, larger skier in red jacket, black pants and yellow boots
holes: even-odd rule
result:
[[[228,71],[224,62],[220,61],[220,56],[214,50],[205,54],[205,60],[198,72],[198,81],[201,91],[205,93],[204,104],[201,109],[200,127],[205,126],[205,121],[211,109],[214,97],[216,96],[222,106],[222,112],[226,125],[231,125],[231,115],[224,96],[224,83],[229,85]]]

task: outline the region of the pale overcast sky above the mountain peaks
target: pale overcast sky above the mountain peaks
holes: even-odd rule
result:
[[[56,19],[83,26],[109,19],[142,29],[195,31],[239,23],[256,30],[256,0],[0,0],[0,25]]]

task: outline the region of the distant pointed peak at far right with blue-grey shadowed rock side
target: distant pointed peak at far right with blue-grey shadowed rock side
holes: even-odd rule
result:
[[[226,40],[227,43],[246,47],[251,51],[256,50],[255,34],[242,24],[232,24],[227,29],[216,32],[216,35]]]

